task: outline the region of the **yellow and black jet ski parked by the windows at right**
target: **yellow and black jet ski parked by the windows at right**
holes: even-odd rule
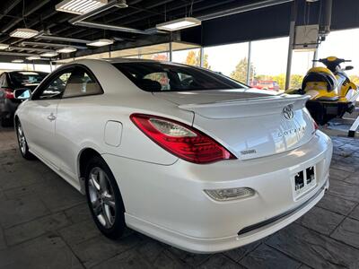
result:
[[[307,108],[311,117],[318,124],[325,125],[332,118],[343,117],[346,112],[352,113],[359,91],[345,73],[346,70],[352,70],[353,66],[340,66],[342,63],[351,62],[350,60],[329,56],[317,62],[327,67],[311,68],[302,81],[302,89],[285,93],[310,95]]]

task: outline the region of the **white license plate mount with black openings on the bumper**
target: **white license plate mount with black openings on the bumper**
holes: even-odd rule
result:
[[[317,186],[315,166],[303,169],[294,175],[294,198],[298,198]]]

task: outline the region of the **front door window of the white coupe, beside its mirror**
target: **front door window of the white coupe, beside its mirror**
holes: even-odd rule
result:
[[[36,92],[35,99],[48,100],[61,98],[70,76],[71,70],[58,74],[43,89],[39,89],[39,92]]]

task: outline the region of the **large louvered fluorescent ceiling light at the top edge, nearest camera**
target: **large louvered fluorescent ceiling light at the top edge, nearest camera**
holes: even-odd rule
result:
[[[85,14],[108,4],[108,0],[64,0],[55,9],[64,13]]]

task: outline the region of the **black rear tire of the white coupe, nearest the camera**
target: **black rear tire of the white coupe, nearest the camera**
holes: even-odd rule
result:
[[[111,200],[111,201],[115,202],[115,205],[113,207],[109,207],[109,205],[107,205],[106,202],[104,202],[102,200],[101,200],[101,202],[96,201],[96,200],[100,200],[101,198],[93,198],[93,196],[94,196],[93,192],[101,193],[101,187],[100,187],[101,184],[99,184],[99,189],[94,188],[94,185],[92,183],[93,179],[91,178],[91,176],[93,176],[93,173],[95,173],[93,171],[97,171],[97,169],[101,169],[101,171],[103,171],[105,173],[105,175],[107,177],[106,179],[108,179],[106,181],[106,182],[108,182],[107,191],[108,191],[109,195],[112,196],[112,198],[113,198],[113,200]],[[98,182],[100,182],[100,179]],[[90,211],[92,213],[92,219],[93,219],[93,221],[95,221],[98,229],[101,230],[101,233],[109,239],[120,238],[126,228],[125,214],[124,214],[125,206],[123,204],[122,196],[119,192],[116,179],[113,176],[111,170],[109,169],[109,166],[107,165],[107,163],[100,156],[93,157],[87,163],[87,167],[86,167],[86,171],[85,171],[85,188],[86,188],[87,204],[89,205]],[[109,191],[109,189],[111,189],[111,190]],[[97,195],[96,195],[97,197],[102,196],[99,193],[97,193]],[[94,204],[98,204],[98,203],[101,203],[101,210],[103,212],[102,214],[95,213],[94,207],[96,207],[96,206]],[[100,221],[100,217],[101,217],[101,220],[102,219],[107,220],[106,224],[108,224],[109,218],[108,218],[108,215],[106,215],[105,208],[104,208],[106,205],[109,208],[108,211],[114,210],[113,212],[110,212],[110,214],[114,213],[113,218],[110,218],[113,221],[113,223],[111,223],[110,227],[105,227],[104,224],[101,223],[101,221]],[[99,207],[100,206],[97,206],[97,208],[99,208]]]

